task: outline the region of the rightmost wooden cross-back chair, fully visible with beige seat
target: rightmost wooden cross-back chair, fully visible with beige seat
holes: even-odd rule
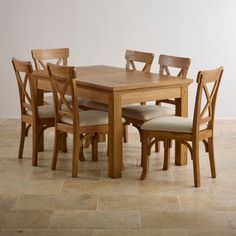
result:
[[[145,179],[148,174],[149,148],[152,138],[165,142],[164,170],[169,168],[171,140],[177,140],[187,146],[193,160],[195,187],[200,187],[199,142],[203,141],[205,150],[209,153],[211,176],[216,178],[213,144],[214,114],[222,73],[223,67],[198,72],[193,119],[165,116],[147,121],[141,126],[143,160],[141,179]]]

